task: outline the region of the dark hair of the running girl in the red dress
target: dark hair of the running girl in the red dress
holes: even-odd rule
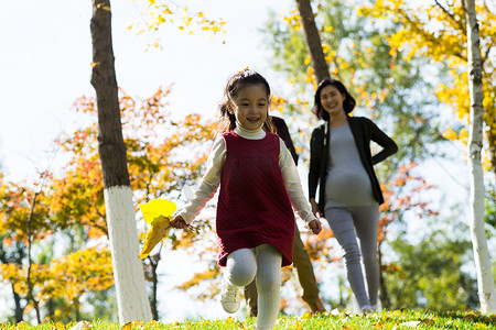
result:
[[[229,113],[229,107],[233,107],[234,98],[238,95],[241,88],[247,85],[261,85],[267,92],[267,100],[270,106],[271,91],[269,82],[260,74],[251,70],[239,72],[227,80],[226,88],[224,89],[224,98],[219,105],[220,122],[218,124],[218,132],[224,133],[236,129],[236,117]],[[269,107],[268,107],[269,108]],[[274,127],[270,120],[269,113],[267,113],[266,122],[263,123],[263,130],[266,132],[273,133]]]

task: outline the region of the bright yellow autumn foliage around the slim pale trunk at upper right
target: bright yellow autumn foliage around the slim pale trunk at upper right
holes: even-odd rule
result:
[[[482,80],[484,89],[483,107],[485,110],[484,148],[487,165],[485,168],[496,170],[496,13],[487,1],[476,0],[479,28],[479,44],[483,62]],[[378,0],[363,6],[358,13],[375,19],[389,19],[402,24],[397,33],[389,36],[391,55],[402,52],[405,59],[416,56],[430,57],[435,63],[448,65],[450,84],[440,85],[435,95],[439,100],[450,106],[459,120],[467,125],[470,120],[470,95],[466,51],[465,12],[462,0],[451,2]],[[446,131],[448,139],[466,141],[466,134]],[[489,166],[490,165],[490,166]]]

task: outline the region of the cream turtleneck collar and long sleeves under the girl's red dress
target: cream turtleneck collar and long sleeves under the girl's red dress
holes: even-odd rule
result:
[[[236,134],[248,140],[261,140],[266,136],[266,132],[261,127],[257,130],[250,131],[241,128],[241,125],[238,124],[234,131]],[[300,218],[306,223],[311,222],[312,220],[316,220],[315,216],[313,216],[312,213],[309,201],[303,195],[300,175],[298,174],[298,168],[294,164],[291,153],[281,139],[279,144],[279,167],[281,168],[282,180],[284,182],[284,186],[291,204],[293,205],[293,208],[296,210],[296,213],[300,216]],[[185,206],[184,210],[179,212],[179,215],[184,219],[184,221],[186,221],[186,223],[191,223],[205,207],[206,202],[214,197],[220,184],[220,175],[225,162],[225,142],[222,136],[218,136],[215,140],[212,151],[208,155],[207,168],[200,182],[200,187],[196,189],[194,197]]]

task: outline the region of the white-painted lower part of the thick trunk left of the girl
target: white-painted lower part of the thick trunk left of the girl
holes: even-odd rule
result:
[[[144,271],[139,255],[138,230],[130,186],[104,190],[112,254],[119,322],[152,319]]]

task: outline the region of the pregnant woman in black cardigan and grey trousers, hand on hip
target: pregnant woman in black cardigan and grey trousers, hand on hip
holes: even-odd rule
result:
[[[327,219],[345,251],[347,278],[355,298],[360,310],[368,312],[377,309],[377,229],[379,205],[384,202],[374,165],[396,153],[398,146],[369,119],[349,116],[356,101],[341,81],[321,81],[314,102],[313,112],[325,123],[313,130],[310,142],[312,211]],[[370,141],[382,147],[374,156]]]

